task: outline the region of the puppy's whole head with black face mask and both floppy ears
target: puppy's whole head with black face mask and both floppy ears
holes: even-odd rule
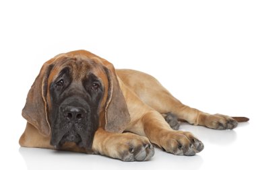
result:
[[[99,127],[123,132],[130,117],[113,65],[85,50],[59,54],[44,63],[22,116],[51,145],[75,142],[90,149]]]

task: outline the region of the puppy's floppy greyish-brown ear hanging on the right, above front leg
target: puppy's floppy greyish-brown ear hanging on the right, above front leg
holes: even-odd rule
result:
[[[106,62],[105,62],[106,63]],[[119,86],[115,68],[110,62],[104,65],[108,76],[108,97],[105,109],[105,130],[108,132],[123,132],[130,122],[130,115],[123,92]]]

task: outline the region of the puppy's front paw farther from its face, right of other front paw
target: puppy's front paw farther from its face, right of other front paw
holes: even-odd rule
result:
[[[174,155],[192,156],[203,150],[203,143],[190,132],[165,131],[160,146]]]

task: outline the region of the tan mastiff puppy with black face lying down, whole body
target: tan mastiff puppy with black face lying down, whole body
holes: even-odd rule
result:
[[[86,50],[59,54],[42,66],[22,116],[20,146],[147,161],[154,145],[174,155],[195,155],[203,143],[179,122],[232,129],[248,118],[207,114],[175,99],[152,76],[116,70]]]

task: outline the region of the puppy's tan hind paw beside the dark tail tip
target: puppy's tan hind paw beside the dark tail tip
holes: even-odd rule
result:
[[[225,130],[236,128],[238,122],[231,118],[230,116],[225,116],[222,114],[214,114],[206,116],[205,126],[207,128]]]

